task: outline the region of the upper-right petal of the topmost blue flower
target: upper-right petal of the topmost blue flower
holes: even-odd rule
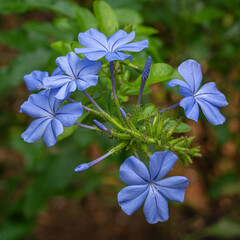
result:
[[[123,30],[117,31],[108,39],[109,51],[114,52],[117,48],[131,42],[134,38],[134,31],[129,34]]]

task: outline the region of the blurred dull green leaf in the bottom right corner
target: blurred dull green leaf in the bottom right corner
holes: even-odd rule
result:
[[[218,239],[240,238],[240,222],[223,218],[203,231],[204,236],[217,237]]]

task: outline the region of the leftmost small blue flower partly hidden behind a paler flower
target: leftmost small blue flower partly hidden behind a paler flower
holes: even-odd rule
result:
[[[51,76],[62,75],[62,74],[64,74],[64,72],[59,67],[57,67],[53,71]],[[48,76],[49,76],[48,72],[42,72],[39,70],[35,70],[35,71],[31,72],[30,74],[25,75],[23,80],[29,91],[37,91],[37,90],[44,89],[45,91],[41,91],[40,93],[48,94],[50,90],[43,84],[43,79]]]

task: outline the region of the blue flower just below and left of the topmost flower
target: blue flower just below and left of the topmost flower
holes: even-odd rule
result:
[[[101,69],[100,62],[79,59],[75,53],[70,52],[67,56],[58,57],[56,63],[64,75],[46,77],[43,84],[48,88],[58,88],[55,97],[60,100],[66,99],[76,89],[84,91],[98,82],[96,74]]]

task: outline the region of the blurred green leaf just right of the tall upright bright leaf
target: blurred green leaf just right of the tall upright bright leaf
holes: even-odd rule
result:
[[[141,24],[143,22],[142,16],[133,9],[119,8],[114,9],[119,25],[124,27],[127,24]]]

